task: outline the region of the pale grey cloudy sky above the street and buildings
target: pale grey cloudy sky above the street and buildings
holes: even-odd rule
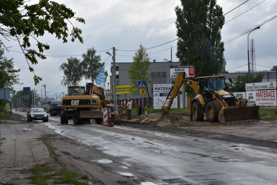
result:
[[[226,14],[245,1],[247,0],[217,0],[217,4],[222,7],[223,14]],[[249,35],[249,40],[254,39],[256,70],[270,70],[272,66],[277,65],[277,19],[268,21],[277,14],[276,1],[249,0],[225,15],[226,23],[221,35],[225,43],[226,70],[229,72],[248,70],[248,34],[234,38],[258,25],[261,25],[260,29]],[[59,71],[59,66],[62,62],[67,62],[67,58],[71,56],[81,60],[81,55],[92,47],[98,55],[101,55],[101,61],[105,61],[105,70],[108,70],[109,74],[111,74],[111,57],[105,51],[112,53],[112,47],[117,49],[116,62],[132,62],[133,50],[137,50],[139,44],[151,48],[147,53],[151,61],[156,59],[157,62],[163,59],[170,60],[172,46],[172,60],[178,61],[175,55],[177,41],[173,40],[177,39],[174,8],[181,4],[179,0],[59,0],[57,2],[71,8],[77,17],[85,19],[85,25],[73,21],[76,27],[83,30],[84,43],[77,41],[63,44],[62,40],[57,40],[50,34],[39,38],[42,43],[50,45],[50,50],[44,53],[47,55],[46,60],[39,59],[39,64],[33,66],[35,74],[42,77],[39,85],[35,86],[33,74],[29,72],[23,54],[18,53],[20,52],[18,44],[6,42],[6,46],[12,46],[10,49],[13,51],[5,51],[5,56],[8,59],[13,58],[15,68],[21,69],[19,78],[24,85],[15,85],[17,91],[23,87],[31,87],[40,95],[43,91],[44,97],[42,85],[45,84],[49,98],[55,98],[55,93],[59,96],[66,91],[61,85],[64,75]],[[85,83],[86,80],[83,80],[81,85]]]

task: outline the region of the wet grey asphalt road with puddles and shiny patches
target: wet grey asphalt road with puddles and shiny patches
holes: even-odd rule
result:
[[[274,141],[135,123],[106,127],[69,121],[61,125],[59,116],[49,117],[47,123],[37,122],[86,146],[83,155],[75,156],[76,166],[78,161],[98,164],[133,184],[260,185],[277,181]],[[89,156],[92,149],[98,155]],[[68,157],[73,150],[60,152]],[[100,173],[94,175],[101,178]]]

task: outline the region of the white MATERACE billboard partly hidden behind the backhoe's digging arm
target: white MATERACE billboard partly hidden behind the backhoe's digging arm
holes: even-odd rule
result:
[[[162,106],[167,106],[169,99],[166,100],[166,97],[172,87],[172,84],[153,84],[153,103],[154,109],[161,109]],[[168,97],[170,98],[170,96]],[[171,108],[178,108],[177,96],[173,99]]]

